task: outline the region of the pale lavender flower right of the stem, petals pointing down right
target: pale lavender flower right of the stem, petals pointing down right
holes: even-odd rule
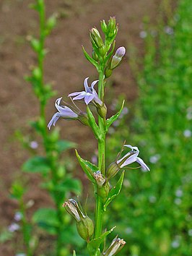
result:
[[[131,145],[124,145],[124,147],[131,148],[131,151],[129,151],[126,155],[123,156],[123,158],[117,161],[117,164],[120,168],[128,166],[128,164],[137,162],[140,164],[142,168],[144,168],[144,170],[150,171],[147,164],[144,163],[144,161],[138,157],[139,149],[137,147],[132,147]]]

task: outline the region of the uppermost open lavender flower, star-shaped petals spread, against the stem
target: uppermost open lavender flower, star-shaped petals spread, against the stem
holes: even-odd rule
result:
[[[70,93],[68,95],[68,97],[73,97],[73,101],[75,100],[82,100],[82,98],[84,98],[84,102],[88,105],[91,101],[93,101],[93,103],[99,104],[100,106],[102,106],[102,101],[100,100],[100,98],[97,95],[96,90],[94,89],[95,84],[98,82],[98,80],[95,80],[92,82],[91,86],[89,87],[88,85],[88,79],[89,77],[85,78],[84,80],[84,89],[82,92],[76,92],[76,93]]]

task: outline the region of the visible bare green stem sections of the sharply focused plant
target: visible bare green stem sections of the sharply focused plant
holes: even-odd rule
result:
[[[104,72],[103,69],[99,73],[99,86],[98,95],[102,100],[104,95],[104,82],[103,82]],[[100,115],[98,115],[98,125],[100,128],[101,138],[98,140],[98,166],[101,173],[105,174],[105,124]],[[96,210],[95,210],[95,234],[94,238],[97,239],[102,234],[102,214],[103,205],[102,198],[96,194]]]

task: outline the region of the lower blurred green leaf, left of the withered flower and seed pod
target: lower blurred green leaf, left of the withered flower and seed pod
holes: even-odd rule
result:
[[[33,214],[32,221],[50,234],[56,234],[56,228],[60,225],[56,210],[53,208],[38,209]]]

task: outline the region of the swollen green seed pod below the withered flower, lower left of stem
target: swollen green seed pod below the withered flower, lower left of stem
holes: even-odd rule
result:
[[[77,222],[77,231],[82,239],[90,242],[90,237],[92,236],[94,231],[94,224],[92,220],[88,216],[85,216],[85,218]]]

